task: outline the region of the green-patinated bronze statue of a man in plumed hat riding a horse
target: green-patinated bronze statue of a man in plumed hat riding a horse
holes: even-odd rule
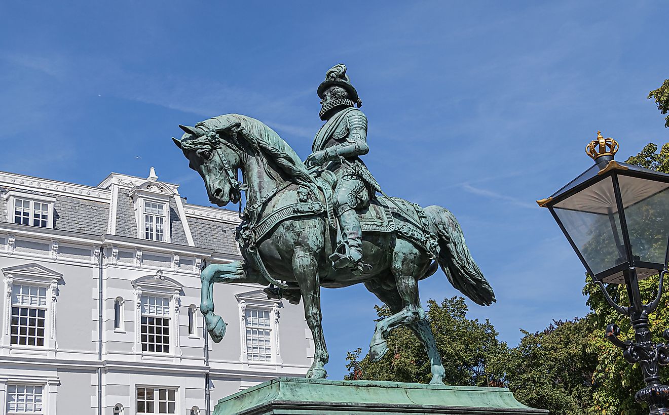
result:
[[[346,66],[328,70],[317,92],[325,124],[305,162],[274,130],[239,114],[179,126],[184,134],[173,138],[202,176],[211,203],[237,203],[246,192],[236,235],[244,259],[211,264],[201,273],[207,331],[217,343],[225,335],[226,323],[214,314],[213,283],[265,285],[269,298],[304,303],[315,345],[306,377],[325,378],[320,287],[363,283],[393,313],[377,323],[370,358],[381,359],[389,332],[405,325],[425,347],[430,383],[443,384],[444,366],[418,281],[441,266],[450,283],[480,305],[495,302],[492,288],[450,211],[381,191],[360,158],[369,152],[367,117]]]

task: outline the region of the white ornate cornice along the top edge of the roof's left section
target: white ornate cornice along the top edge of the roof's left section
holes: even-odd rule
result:
[[[111,192],[108,189],[84,186],[68,182],[59,182],[47,178],[23,176],[9,172],[0,172],[0,186],[21,190],[32,190],[43,194],[70,196],[84,200],[109,203]]]

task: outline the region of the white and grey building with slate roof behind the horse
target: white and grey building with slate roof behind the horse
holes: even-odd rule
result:
[[[0,172],[0,413],[209,415],[277,376],[304,376],[302,305],[217,284],[221,343],[199,273],[240,259],[237,214],[179,186],[112,173],[98,186]]]

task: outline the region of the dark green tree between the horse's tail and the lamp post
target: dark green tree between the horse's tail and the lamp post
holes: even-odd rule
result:
[[[589,319],[553,321],[509,350],[504,372],[516,399],[551,414],[581,415],[592,406],[597,356],[589,350]]]

